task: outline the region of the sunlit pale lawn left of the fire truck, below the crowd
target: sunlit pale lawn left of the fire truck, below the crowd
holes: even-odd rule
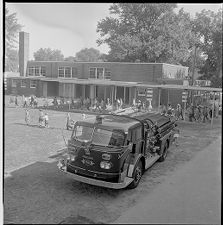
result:
[[[49,114],[49,128],[38,126],[39,110],[30,109],[30,126],[25,123],[25,109],[6,107],[4,111],[4,168],[5,172],[18,169],[36,161],[47,160],[65,147],[71,131],[65,130],[66,112],[44,110]],[[81,119],[81,114],[70,113]],[[63,138],[64,135],[64,138]]]

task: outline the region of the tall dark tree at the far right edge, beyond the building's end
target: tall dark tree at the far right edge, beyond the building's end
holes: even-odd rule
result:
[[[222,9],[217,13],[202,10],[197,13],[193,32],[200,39],[200,48],[205,57],[199,66],[200,79],[211,80],[213,87],[222,87]]]

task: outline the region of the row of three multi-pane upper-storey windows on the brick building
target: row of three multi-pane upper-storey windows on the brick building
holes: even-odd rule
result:
[[[46,67],[44,66],[29,67],[28,76],[46,76]],[[77,77],[77,68],[61,66],[58,68],[58,77],[75,78]],[[89,69],[89,77],[91,79],[111,79],[111,71],[107,68],[92,67]]]

